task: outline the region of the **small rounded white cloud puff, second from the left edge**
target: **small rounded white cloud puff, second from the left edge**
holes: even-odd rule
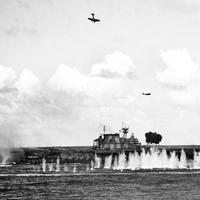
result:
[[[30,70],[24,69],[15,83],[21,94],[34,94],[41,88],[40,81]]]

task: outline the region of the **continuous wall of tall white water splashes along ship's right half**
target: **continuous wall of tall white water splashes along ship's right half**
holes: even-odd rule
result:
[[[168,155],[166,149],[158,150],[157,148],[151,148],[149,151],[142,149],[140,154],[130,153],[128,158],[122,152],[119,156],[115,156],[113,164],[112,155],[106,157],[104,168],[121,171],[123,169],[200,169],[200,153],[194,151],[194,159],[187,160],[183,149],[180,156],[176,155],[175,151]]]

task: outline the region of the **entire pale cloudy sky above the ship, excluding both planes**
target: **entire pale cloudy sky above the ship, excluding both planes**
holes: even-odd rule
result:
[[[199,35],[198,0],[0,0],[0,145],[200,144]]]

